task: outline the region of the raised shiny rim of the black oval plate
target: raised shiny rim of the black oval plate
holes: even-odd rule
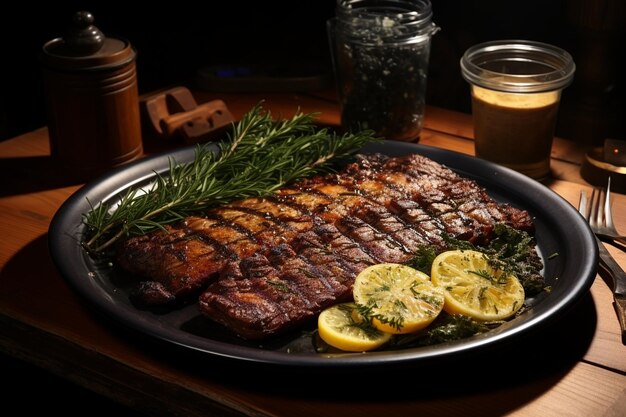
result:
[[[577,267],[580,273],[577,279],[573,281],[565,297],[551,301],[539,311],[534,311],[535,308],[531,309],[524,313],[527,316],[521,323],[504,324],[498,328],[502,329],[496,332],[491,331],[472,336],[469,339],[462,339],[460,342],[448,342],[405,350],[367,352],[367,354],[324,355],[313,353],[301,355],[223,342],[210,342],[201,336],[164,327],[162,323],[150,316],[152,314],[150,312],[139,309],[131,310],[126,306],[116,305],[113,302],[113,296],[106,293],[96,280],[85,279],[85,277],[89,277],[91,272],[87,265],[83,265],[85,268],[82,268],[81,265],[77,266],[75,262],[68,260],[69,255],[80,255],[81,252],[84,252],[77,241],[82,227],[81,217],[77,214],[79,210],[84,212],[83,208],[86,206],[88,198],[92,202],[99,200],[94,200],[93,196],[101,197],[102,200],[109,199],[120,189],[128,188],[132,184],[153,177],[155,171],[167,171],[171,158],[182,162],[189,160],[188,158],[194,155],[195,149],[195,145],[187,146],[175,151],[148,156],[94,179],[75,191],[61,205],[48,230],[49,250],[53,262],[61,272],[64,281],[79,296],[87,300],[96,312],[104,313],[107,318],[113,319],[117,324],[168,345],[190,349],[211,358],[228,358],[237,362],[254,362],[287,367],[353,368],[404,363],[432,363],[439,359],[455,357],[461,353],[471,353],[486,347],[496,347],[501,343],[515,340],[525,332],[542,328],[573,307],[589,290],[596,275],[598,254],[595,237],[591,229],[567,200],[547,186],[506,167],[470,155],[422,144],[383,141],[366,145],[362,151],[365,153],[383,152],[391,156],[410,152],[420,153],[453,169],[464,177],[476,180],[489,193],[505,194],[514,205],[526,209],[529,208],[525,207],[524,204],[532,205],[533,207],[529,211],[531,214],[534,213],[536,218],[541,214],[547,218],[573,221],[574,227],[568,227],[568,231],[575,233],[572,237],[575,237],[576,241],[566,242],[564,249],[567,249],[568,252],[576,252],[574,244],[577,243],[578,252],[581,252],[582,249],[583,256],[577,258]],[[124,182],[124,179],[130,179],[130,181],[126,181],[125,185],[120,188],[119,183]],[[112,190],[116,191],[113,192]],[[528,199],[529,195],[530,200],[523,203],[522,200]],[[562,225],[559,224],[554,226],[562,228]],[[574,246],[572,247],[572,245]],[[569,253],[565,255],[567,256]],[[84,257],[80,259],[83,259],[83,263],[86,262]],[[546,303],[546,301],[544,300],[542,303]]]

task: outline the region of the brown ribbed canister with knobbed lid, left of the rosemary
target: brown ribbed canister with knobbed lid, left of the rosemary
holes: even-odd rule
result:
[[[101,173],[143,154],[130,42],[107,38],[89,12],[43,46],[42,65],[53,159],[78,173]]]

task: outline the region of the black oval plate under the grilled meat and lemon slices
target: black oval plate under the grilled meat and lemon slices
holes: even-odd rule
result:
[[[527,209],[536,222],[538,249],[545,262],[543,273],[552,291],[531,299],[529,311],[487,333],[440,345],[366,354],[316,353],[312,329],[265,341],[262,346],[242,342],[212,325],[199,313],[196,304],[165,313],[139,310],[129,302],[128,288],[120,284],[115,269],[95,263],[80,247],[82,215],[90,209],[88,201],[115,202],[129,187],[149,184],[155,171],[168,170],[170,157],[178,162],[191,161],[193,147],[125,165],[78,190],[61,206],[50,225],[52,258],[67,283],[90,305],[141,335],[212,359],[222,357],[286,367],[415,365],[483,351],[553,323],[588,291],[596,274],[595,239],[574,207],[549,188],[507,168],[423,145],[386,142],[369,145],[363,151],[390,156],[423,154],[476,180],[497,201]]]

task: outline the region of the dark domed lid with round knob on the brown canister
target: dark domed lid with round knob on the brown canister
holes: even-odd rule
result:
[[[105,37],[93,22],[91,13],[75,13],[67,33],[44,44],[44,64],[61,70],[95,70],[118,67],[135,58],[127,40]]]

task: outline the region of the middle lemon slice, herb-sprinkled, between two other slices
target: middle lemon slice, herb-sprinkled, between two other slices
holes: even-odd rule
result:
[[[365,268],[357,275],[352,294],[355,303],[368,310],[377,329],[393,334],[425,328],[444,304],[443,290],[428,275],[394,263]]]

